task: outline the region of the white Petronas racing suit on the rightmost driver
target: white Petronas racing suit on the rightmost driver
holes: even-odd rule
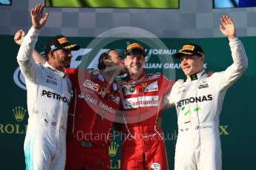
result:
[[[221,169],[219,116],[223,99],[247,67],[243,44],[230,39],[234,63],[223,72],[208,77],[206,72],[177,81],[167,95],[169,104],[176,106],[179,133],[174,169]]]

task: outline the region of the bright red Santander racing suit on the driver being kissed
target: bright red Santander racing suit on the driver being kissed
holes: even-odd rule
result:
[[[162,115],[163,95],[173,84],[162,74],[145,72],[137,81],[126,78],[122,82],[121,169],[168,169],[164,135],[157,120]]]

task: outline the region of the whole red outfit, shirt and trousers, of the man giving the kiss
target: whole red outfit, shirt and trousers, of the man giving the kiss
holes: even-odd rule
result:
[[[111,127],[121,105],[117,85],[108,84],[100,74],[91,76],[78,69],[66,69],[66,74],[73,84],[73,99],[65,169],[110,169]]]

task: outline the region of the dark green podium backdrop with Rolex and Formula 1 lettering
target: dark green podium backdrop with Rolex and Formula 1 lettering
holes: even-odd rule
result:
[[[16,55],[19,46],[13,42],[12,35],[1,37],[1,114],[0,114],[0,161],[1,169],[25,169],[23,143],[27,129],[27,96],[24,79],[19,72]],[[36,50],[43,52],[48,37],[39,37]],[[185,78],[179,61],[171,58],[184,43],[200,44],[206,54],[206,70],[223,71],[232,64],[229,41],[227,38],[176,39],[162,38],[165,44],[158,47],[153,39],[102,38],[93,49],[89,46],[94,38],[69,38],[80,44],[82,50],[73,53],[71,67],[78,67],[85,61],[85,69],[96,66],[94,57],[105,49],[114,48],[124,52],[127,43],[142,41],[148,55],[146,72],[171,72],[176,79]],[[220,135],[223,151],[223,169],[254,169],[255,136],[255,83],[256,83],[256,37],[240,38],[246,48],[249,67],[245,74],[226,93],[223,110],[220,115]],[[104,42],[104,43],[102,43]],[[107,42],[107,43],[106,43]],[[153,44],[153,45],[147,45]],[[162,48],[162,49],[161,49]],[[174,148],[177,139],[177,115],[175,109],[163,113],[163,131],[165,132],[168,164],[174,169]],[[116,137],[110,147],[111,169],[119,169],[121,144]],[[79,157],[79,155],[77,155]]]

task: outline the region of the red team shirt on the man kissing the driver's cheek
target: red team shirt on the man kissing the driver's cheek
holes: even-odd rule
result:
[[[90,72],[78,69],[66,69],[66,74],[73,86],[67,136],[77,140],[89,139],[96,146],[108,146],[113,120],[120,109],[116,83],[105,89],[108,83],[100,74],[92,76]],[[106,93],[104,98],[103,92]]]

